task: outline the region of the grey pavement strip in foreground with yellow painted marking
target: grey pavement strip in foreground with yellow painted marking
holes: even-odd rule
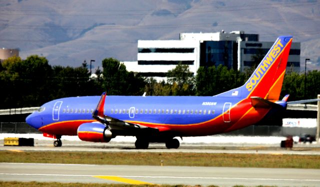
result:
[[[320,169],[0,163],[0,180],[319,186]]]

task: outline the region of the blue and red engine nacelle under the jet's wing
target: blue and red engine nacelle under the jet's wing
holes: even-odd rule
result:
[[[97,122],[82,123],[77,129],[77,134],[83,141],[109,142],[112,138],[112,132]]]

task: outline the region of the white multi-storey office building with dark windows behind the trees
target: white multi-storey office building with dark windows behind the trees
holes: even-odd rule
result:
[[[122,63],[128,71],[158,80],[165,79],[166,72],[178,63],[189,65],[193,75],[199,66],[219,64],[243,71],[252,65],[252,55],[261,51],[266,54],[274,42],[260,42],[258,37],[244,31],[221,31],[180,33],[179,40],[138,40],[137,61]],[[291,50],[288,66],[299,71],[300,43],[292,43]]]

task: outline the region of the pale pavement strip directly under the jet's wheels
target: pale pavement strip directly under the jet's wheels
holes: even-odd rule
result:
[[[103,151],[103,152],[198,152],[198,153],[254,153],[320,155],[319,144],[294,144],[292,149],[279,145],[250,144],[181,144],[178,149],[167,149],[164,143],[150,143],[148,149],[135,149],[131,142],[95,143],[64,140],[61,147],[53,147],[52,140],[34,140],[34,146],[0,146],[0,150],[20,151]],[[0,144],[3,145],[3,140]]]

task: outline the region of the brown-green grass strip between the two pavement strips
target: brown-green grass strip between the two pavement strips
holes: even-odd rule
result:
[[[320,155],[184,152],[0,151],[0,162],[320,168]]]

